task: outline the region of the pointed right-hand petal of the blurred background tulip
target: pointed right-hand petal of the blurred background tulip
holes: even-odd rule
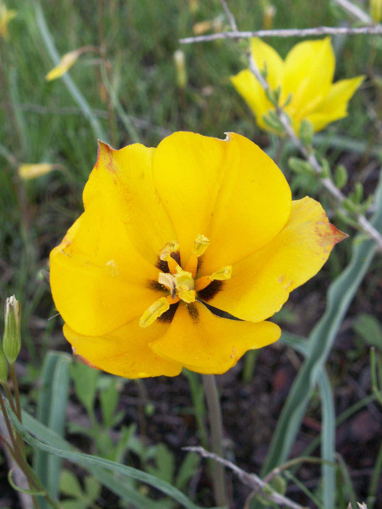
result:
[[[342,79],[332,85],[328,95],[307,116],[315,131],[323,129],[335,120],[346,117],[347,104],[364,79],[365,76],[356,76],[355,78]]]

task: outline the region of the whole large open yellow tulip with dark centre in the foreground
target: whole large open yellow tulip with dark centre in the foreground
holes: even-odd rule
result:
[[[266,319],[345,236],[234,133],[100,142],[83,199],[50,253],[52,296],[73,352],[128,378],[224,373],[275,342]]]

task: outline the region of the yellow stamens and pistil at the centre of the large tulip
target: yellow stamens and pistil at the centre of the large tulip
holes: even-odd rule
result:
[[[141,327],[148,327],[155,322],[163,313],[170,309],[171,304],[176,304],[180,300],[190,304],[197,300],[197,292],[204,290],[212,281],[224,281],[229,279],[232,273],[232,266],[222,267],[209,276],[197,277],[198,258],[202,256],[209,246],[209,239],[204,235],[198,235],[191,255],[184,267],[175,260],[176,253],[179,254],[179,242],[167,242],[159,251],[159,258],[167,262],[169,272],[159,272],[158,282],[168,289],[170,294],[167,297],[161,297],[146,309],[140,319]]]

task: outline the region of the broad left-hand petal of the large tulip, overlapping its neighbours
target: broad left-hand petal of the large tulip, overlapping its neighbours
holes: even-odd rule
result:
[[[50,253],[53,300],[81,334],[114,330],[162,296],[151,289],[158,269],[140,256],[127,233],[112,200],[93,200]]]

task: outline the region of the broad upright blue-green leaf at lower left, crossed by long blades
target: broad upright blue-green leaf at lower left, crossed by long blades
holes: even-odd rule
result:
[[[38,399],[39,420],[58,435],[64,434],[66,405],[69,392],[69,364],[71,359],[63,353],[48,352],[41,371],[41,389]],[[62,460],[36,450],[35,471],[52,498],[59,493]],[[41,509],[49,507],[39,497]]]

